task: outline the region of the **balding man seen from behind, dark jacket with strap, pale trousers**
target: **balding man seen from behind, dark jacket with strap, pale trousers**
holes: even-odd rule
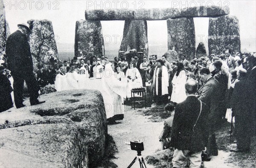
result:
[[[175,148],[173,168],[180,168],[186,158],[190,167],[200,168],[201,153],[207,143],[209,108],[195,97],[198,83],[189,79],[186,84],[187,98],[175,107],[171,145]]]

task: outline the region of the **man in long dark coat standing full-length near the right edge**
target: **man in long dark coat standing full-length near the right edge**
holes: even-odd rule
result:
[[[247,152],[250,150],[250,137],[253,133],[253,118],[251,117],[251,94],[247,81],[247,71],[240,69],[237,73],[239,82],[236,83],[232,97],[232,115],[235,116],[235,137],[237,148],[231,149],[235,152]],[[255,96],[255,95],[254,95]]]

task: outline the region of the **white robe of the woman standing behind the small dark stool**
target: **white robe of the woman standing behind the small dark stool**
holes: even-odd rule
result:
[[[130,76],[131,78],[135,78],[135,76],[137,77],[137,79],[135,79],[134,81],[128,79],[128,84],[127,84],[127,92],[126,92],[126,96],[128,98],[131,97],[131,89],[133,88],[142,88],[142,78],[140,75],[140,72],[137,68],[129,68],[126,71],[126,77]],[[136,97],[140,97],[138,94],[136,94]]]

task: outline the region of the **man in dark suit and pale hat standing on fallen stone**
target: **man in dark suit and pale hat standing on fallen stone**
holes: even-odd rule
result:
[[[33,74],[33,61],[28,43],[30,29],[27,24],[18,24],[18,30],[11,34],[6,42],[6,56],[8,68],[13,77],[14,100],[16,108],[23,105],[24,80],[28,86],[30,105],[37,105],[45,101],[39,101],[39,85]]]

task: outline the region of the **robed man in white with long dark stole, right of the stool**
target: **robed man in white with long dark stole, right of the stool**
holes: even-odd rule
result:
[[[159,104],[168,100],[169,77],[163,61],[157,60],[156,64],[157,66],[154,70],[154,97],[156,103]]]

